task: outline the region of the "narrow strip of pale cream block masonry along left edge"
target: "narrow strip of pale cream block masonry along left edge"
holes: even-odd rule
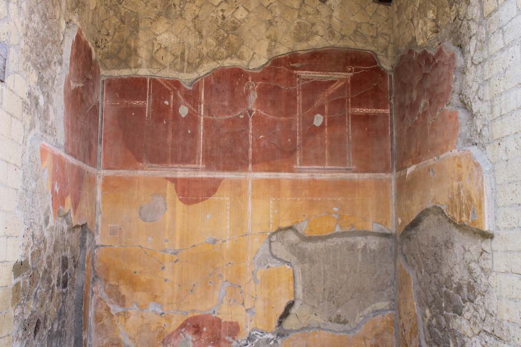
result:
[[[0,345],[13,341],[13,302],[11,290],[13,265],[21,245],[22,218],[17,212],[21,188],[22,143],[24,139],[24,105],[27,99],[27,76],[19,73],[22,21],[20,7],[0,2],[0,41],[9,46],[6,82],[0,84]]]

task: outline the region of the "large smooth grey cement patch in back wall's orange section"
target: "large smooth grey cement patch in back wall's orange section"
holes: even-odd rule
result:
[[[366,231],[305,236],[293,227],[270,236],[271,253],[293,267],[295,298],[282,328],[355,329],[394,310],[394,238]]]

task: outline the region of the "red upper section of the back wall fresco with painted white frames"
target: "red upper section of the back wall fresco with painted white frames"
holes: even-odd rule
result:
[[[292,53],[191,87],[110,78],[104,104],[105,169],[391,169],[389,76],[368,52]]]

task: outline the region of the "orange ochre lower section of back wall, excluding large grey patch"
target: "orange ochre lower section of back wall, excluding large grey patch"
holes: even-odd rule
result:
[[[305,221],[309,235],[371,230],[373,222],[391,227],[390,178],[251,181],[249,214],[246,178],[223,179],[203,200],[205,191],[197,188],[202,178],[188,181],[185,196],[178,197],[171,179],[104,176],[98,236],[103,247],[96,251],[95,271],[112,311],[123,310],[126,319],[143,326],[172,317],[180,324],[195,313],[215,312],[237,322],[236,338],[253,328],[273,331],[294,293],[287,266],[261,268],[254,277],[254,256],[271,231]],[[156,221],[144,222],[139,210],[154,195],[165,198],[167,209]],[[200,202],[183,202],[191,199]],[[317,225],[320,220],[328,220],[327,230]],[[149,341],[162,341],[176,328],[164,324],[135,339],[150,333]]]

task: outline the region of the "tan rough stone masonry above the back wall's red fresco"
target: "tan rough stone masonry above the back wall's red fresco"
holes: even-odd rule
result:
[[[69,1],[105,74],[194,80],[294,50],[373,50],[391,67],[390,8],[372,0]]]

